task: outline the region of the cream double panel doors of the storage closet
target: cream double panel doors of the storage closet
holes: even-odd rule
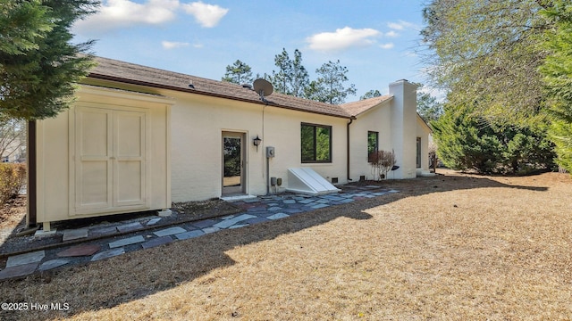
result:
[[[75,214],[144,209],[147,113],[75,109]]]

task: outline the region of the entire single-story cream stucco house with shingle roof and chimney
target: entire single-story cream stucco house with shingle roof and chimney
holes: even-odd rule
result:
[[[74,106],[30,133],[29,223],[44,230],[172,202],[282,192],[300,183],[290,169],[312,169],[333,185],[371,179],[372,148],[395,152],[391,178],[428,172],[430,129],[407,80],[391,83],[389,95],[333,105],[276,93],[262,100],[248,85],[97,62]]]

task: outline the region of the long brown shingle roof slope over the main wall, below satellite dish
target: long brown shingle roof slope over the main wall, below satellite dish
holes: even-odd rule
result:
[[[96,57],[97,67],[89,73],[90,78],[113,80],[141,86],[167,88],[199,95],[212,95],[249,103],[263,103],[252,89],[178,72],[159,70],[130,62]],[[192,87],[189,86],[192,84]],[[265,97],[268,105],[297,111],[307,111],[334,117],[350,118],[341,105],[320,103],[308,99],[274,93]]]

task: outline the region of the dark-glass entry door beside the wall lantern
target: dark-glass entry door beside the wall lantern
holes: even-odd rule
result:
[[[223,132],[223,194],[245,192],[244,134]]]

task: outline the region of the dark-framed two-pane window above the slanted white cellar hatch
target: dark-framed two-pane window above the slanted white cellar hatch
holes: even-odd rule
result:
[[[302,162],[332,162],[332,126],[302,124]]]

